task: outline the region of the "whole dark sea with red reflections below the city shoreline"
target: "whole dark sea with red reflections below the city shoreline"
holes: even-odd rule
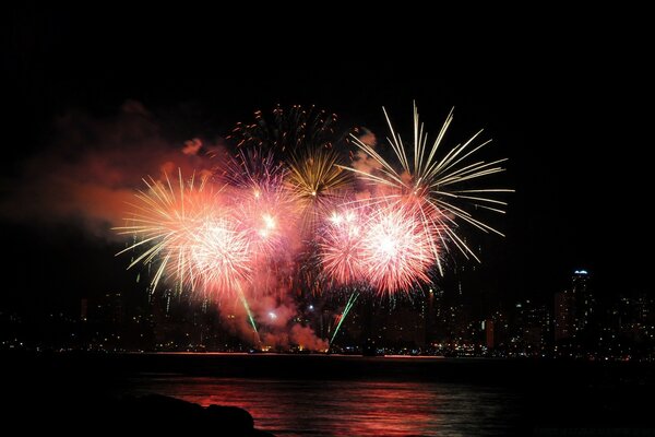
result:
[[[3,358],[16,364],[5,380],[11,374],[27,404],[51,402],[58,390],[163,394],[239,406],[275,436],[655,435],[652,364],[223,353]]]

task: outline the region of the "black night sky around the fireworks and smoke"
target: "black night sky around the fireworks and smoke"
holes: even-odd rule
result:
[[[516,193],[496,222],[508,236],[480,239],[489,288],[550,299],[585,268],[600,293],[652,293],[652,71],[638,23],[619,34],[587,17],[544,17],[463,37],[419,20],[410,40],[354,11],[330,25],[266,27],[248,13],[11,11],[2,196],[26,182],[24,163],[48,150],[53,121],[71,110],[103,118],[135,99],[181,142],[225,134],[277,103],[313,104],[382,132],[382,105],[402,123],[416,99],[432,132],[454,106],[458,138],[485,128],[492,156],[510,158],[504,181]],[[3,275],[12,296],[50,287],[57,300],[97,277],[111,276],[111,286],[133,279],[111,245],[75,226],[3,224],[15,255]]]

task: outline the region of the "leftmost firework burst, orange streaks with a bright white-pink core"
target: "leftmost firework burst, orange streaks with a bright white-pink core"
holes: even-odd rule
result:
[[[178,184],[166,175],[164,182],[144,180],[138,203],[117,228],[131,234],[136,243],[118,255],[143,249],[128,268],[156,264],[153,288],[163,277],[205,293],[224,294],[235,290],[250,271],[250,250],[243,232],[219,206],[218,192],[207,189],[206,178],[188,180],[178,173]]]

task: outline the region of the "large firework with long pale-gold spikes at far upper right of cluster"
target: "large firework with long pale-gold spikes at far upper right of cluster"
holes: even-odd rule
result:
[[[428,145],[428,133],[419,122],[416,106],[414,106],[413,147],[407,151],[384,108],[383,111],[390,130],[389,144],[400,164],[400,170],[382,157],[373,146],[356,137],[353,137],[355,144],[376,161],[378,169],[369,172],[352,167],[344,168],[356,173],[376,186],[378,191],[383,193],[380,196],[383,202],[396,202],[398,205],[408,205],[413,210],[412,215],[419,218],[425,228],[422,234],[433,236],[429,239],[429,246],[432,258],[442,273],[440,251],[448,249],[450,245],[454,245],[467,258],[473,257],[479,261],[464,238],[457,234],[457,227],[461,223],[466,223],[484,232],[493,232],[502,236],[499,231],[476,218],[472,209],[504,213],[502,208],[507,203],[496,199],[496,194],[512,190],[476,189],[469,188],[467,185],[481,177],[503,172],[504,168],[500,164],[505,160],[489,163],[473,160],[476,152],[490,142],[489,140],[477,143],[481,130],[464,143],[442,152],[443,147],[440,145],[453,120],[452,110],[434,141]]]

